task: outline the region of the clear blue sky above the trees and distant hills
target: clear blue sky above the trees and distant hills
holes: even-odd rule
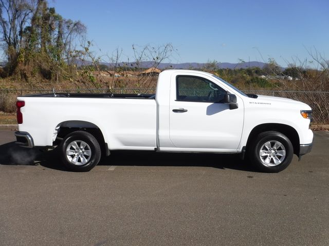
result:
[[[97,54],[122,48],[122,60],[132,57],[133,44],[167,43],[177,49],[173,63],[275,58],[286,66],[296,58],[311,60],[307,50],[314,49],[329,59],[328,0],[56,0],[49,5],[86,25]]]

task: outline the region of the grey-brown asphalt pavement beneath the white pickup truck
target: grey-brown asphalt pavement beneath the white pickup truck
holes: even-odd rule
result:
[[[74,173],[13,141],[0,131],[0,245],[329,245],[329,132],[275,174],[153,152]]]

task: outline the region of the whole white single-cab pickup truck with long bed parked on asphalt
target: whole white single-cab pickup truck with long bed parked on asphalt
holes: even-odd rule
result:
[[[311,108],[246,95],[206,72],[166,70],[156,94],[17,97],[16,144],[59,148],[63,163],[89,171],[114,150],[241,154],[263,172],[285,169],[312,149]]]

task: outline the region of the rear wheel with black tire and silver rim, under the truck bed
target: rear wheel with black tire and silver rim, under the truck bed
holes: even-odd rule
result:
[[[62,140],[59,150],[63,164],[76,172],[92,170],[101,158],[101,148],[97,139],[84,131],[68,134]]]

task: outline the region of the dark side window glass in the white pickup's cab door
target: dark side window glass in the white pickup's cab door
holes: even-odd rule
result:
[[[202,77],[179,75],[176,78],[178,101],[220,103],[226,91]]]

